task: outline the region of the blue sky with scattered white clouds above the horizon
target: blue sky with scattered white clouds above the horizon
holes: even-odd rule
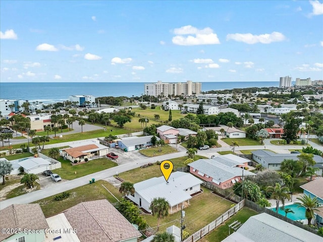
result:
[[[323,1],[1,1],[1,82],[323,79]]]

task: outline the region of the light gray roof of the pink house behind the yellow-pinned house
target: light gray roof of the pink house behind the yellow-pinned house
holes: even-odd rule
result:
[[[242,168],[231,167],[213,159],[199,159],[188,165],[208,175],[209,177],[221,181],[222,183],[226,180],[232,179],[235,176],[242,175]],[[248,170],[244,170],[243,174],[255,175],[255,173]]]

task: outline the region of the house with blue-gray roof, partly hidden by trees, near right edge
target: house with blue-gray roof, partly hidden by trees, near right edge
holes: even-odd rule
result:
[[[270,170],[280,170],[281,169],[281,163],[284,161],[284,159],[293,159],[298,160],[299,154],[276,154],[272,151],[268,150],[255,150],[251,151],[252,153],[252,159],[259,164],[261,164],[263,167],[270,169]],[[323,170],[323,158],[319,155],[314,155],[313,157],[316,164],[313,167],[318,168],[316,171],[317,175],[322,175]]]

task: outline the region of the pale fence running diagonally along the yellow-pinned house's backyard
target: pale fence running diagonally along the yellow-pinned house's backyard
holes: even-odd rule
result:
[[[205,236],[207,233],[209,233],[214,228],[219,227],[223,222],[228,220],[231,216],[235,215],[239,210],[241,210],[244,206],[244,200],[239,202],[234,207],[230,208],[227,212],[222,214],[220,217],[218,217],[216,220],[210,222],[205,227],[201,228],[197,232],[193,233],[191,236],[183,240],[183,242],[195,242]]]

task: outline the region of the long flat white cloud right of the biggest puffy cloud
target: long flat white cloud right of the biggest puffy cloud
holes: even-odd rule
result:
[[[247,34],[228,34],[227,40],[235,40],[238,42],[244,42],[247,44],[255,44],[255,43],[262,43],[262,44],[270,44],[272,42],[280,42],[286,39],[286,37],[279,32],[273,32],[271,34],[260,34],[260,35],[253,35],[250,33]]]

